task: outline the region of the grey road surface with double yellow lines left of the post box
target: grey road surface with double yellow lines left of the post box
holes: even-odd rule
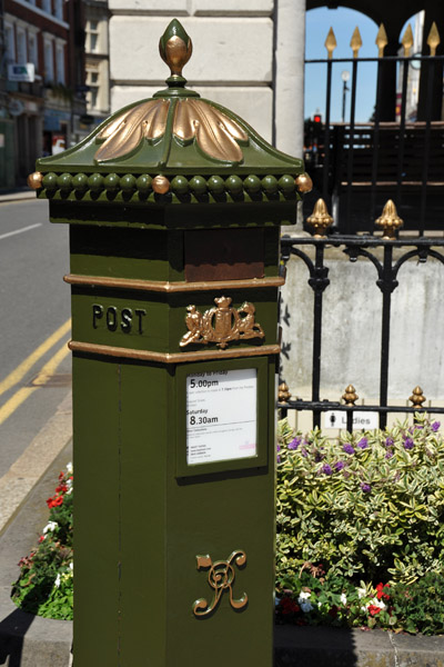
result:
[[[0,479],[71,388],[68,226],[0,203]]]

